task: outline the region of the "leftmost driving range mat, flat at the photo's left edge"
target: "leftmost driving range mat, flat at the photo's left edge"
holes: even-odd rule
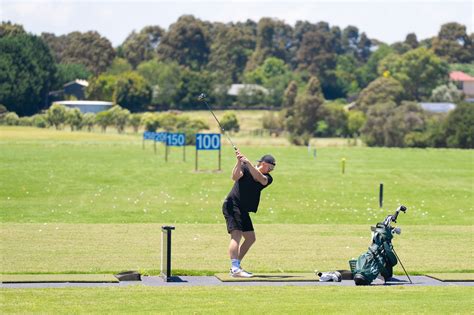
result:
[[[37,274],[37,275],[0,275],[2,283],[103,283],[119,282],[114,275],[110,274]]]

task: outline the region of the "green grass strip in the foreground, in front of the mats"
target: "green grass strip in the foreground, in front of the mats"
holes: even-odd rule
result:
[[[2,289],[3,313],[472,314],[473,287]]]

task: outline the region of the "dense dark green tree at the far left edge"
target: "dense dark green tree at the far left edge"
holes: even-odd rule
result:
[[[18,115],[45,107],[54,84],[56,65],[41,38],[12,35],[0,38],[0,103]]]

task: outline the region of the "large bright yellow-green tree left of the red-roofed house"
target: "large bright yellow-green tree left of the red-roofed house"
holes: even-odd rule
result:
[[[424,47],[388,57],[381,61],[379,73],[389,71],[402,84],[406,99],[429,98],[435,87],[448,80],[448,64]]]

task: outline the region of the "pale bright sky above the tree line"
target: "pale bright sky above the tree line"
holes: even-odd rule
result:
[[[356,26],[386,43],[435,36],[441,25],[458,22],[474,32],[474,0],[0,0],[0,19],[33,34],[98,31],[118,46],[133,31],[159,25],[168,29],[184,14],[209,22],[262,17],[325,21],[341,29]]]

